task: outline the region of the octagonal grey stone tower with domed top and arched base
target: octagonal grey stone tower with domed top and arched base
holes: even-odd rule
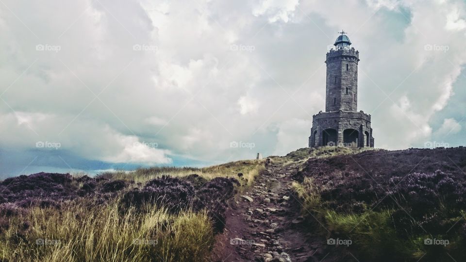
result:
[[[325,112],[313,115],[309,147],[374,147],[370,115],[358,112],[359,51],[340,34],[327,53]]]

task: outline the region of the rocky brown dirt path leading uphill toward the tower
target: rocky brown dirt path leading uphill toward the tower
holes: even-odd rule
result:
[[[322,249],[300,231],[300,203],[291,194],[296,165],[269,164],[254,185],[226,212],[226,229],[217,235],[212,261],[319,261]],[[248,200],[252,198],[252,202]],[[315,241],[313,241],[315,242]]]

